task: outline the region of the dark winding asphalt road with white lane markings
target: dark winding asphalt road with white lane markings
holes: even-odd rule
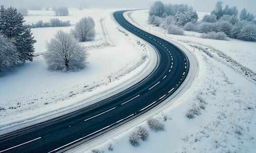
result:
[[[160,104],[183,83],[189,71],[187,56],[173,44],[127,22],[114,13],[126,30],[144,39],[159,53],[159,65],[143,81],[73,113],[0,136],[0,152],[56,152],[90,140]],[[17,116],[18,117],[18,116]]]

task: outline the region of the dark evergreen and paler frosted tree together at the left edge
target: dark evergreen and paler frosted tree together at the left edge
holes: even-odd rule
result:
[[[24,17],[17,9],[10,7],[0,9],[0,72],[15,67],[25,61],[33,60],[31,29],[24,26]]]

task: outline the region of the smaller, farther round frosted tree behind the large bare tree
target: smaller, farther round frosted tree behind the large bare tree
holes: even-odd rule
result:
[[[81,41],[91,41],[95,38],[95,22],[92,17],[82,18],[75,24],[74,30],[71,30],[73,36]]]

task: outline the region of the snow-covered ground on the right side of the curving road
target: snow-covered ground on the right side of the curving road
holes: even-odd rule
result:
[[[131,17],[141,28],[149,31],[151,27],[151,33],[176,41],[195,54],[199,61],[198,77],[191,88],[172,106],[154,116],[164,124],[164,131],[154,132],[149,129],[147,122],[142,122],[129,131],[109,138],[103,144],[93,148],[83,145],[70,152],[92,152],[92,149],[114,153],[255,152],[255,81],[248,79],[232,62],[227,62],[215,51],[220,50],[235,59],[232,50],[241,49],[236,52],[241,58],[237,57],[236,60],[239,64],[255,70],[256,56],[255,49],[252,48],[256,43],[204,40],[194,36],[168,34],[165,37],[162,29],[147,24],[147,11],[135,11]],[[251,57],[246,56],[247,53]],[[189,119],[186,116],[190,109],[197,110],[198,115],[195,118]],[[149,137],[146,141],[139,140],[139,146],[134,147],[129,143],[129,136],[138,126],[145,127],[149,131]],[[113,151],[108,149],[110,144]]]

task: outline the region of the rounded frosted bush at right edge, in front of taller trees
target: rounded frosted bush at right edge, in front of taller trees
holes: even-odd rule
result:
[[[238,39],[256,41],[256,26],[251,23],[243,26],[241,32],[238,34]]]

